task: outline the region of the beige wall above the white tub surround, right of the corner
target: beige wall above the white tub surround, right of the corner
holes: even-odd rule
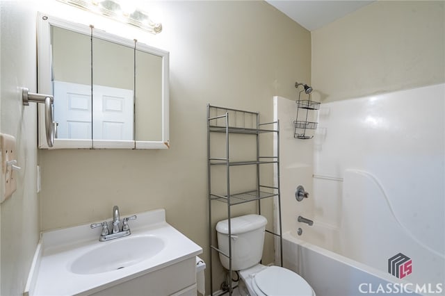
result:
[[[312,86],[334,101],[443,83],[444,4],[377,1],[312,31]]]

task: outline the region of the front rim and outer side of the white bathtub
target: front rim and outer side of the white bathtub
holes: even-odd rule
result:
[[[302,236],[308,238],[310,230],[304,232],[306,235]],[[442,284],[416,285],[396,279],[387,272],[302,240],[302,236],[296,231],[283,234],[283,265],[300,274],[317,296],[444,295]]]

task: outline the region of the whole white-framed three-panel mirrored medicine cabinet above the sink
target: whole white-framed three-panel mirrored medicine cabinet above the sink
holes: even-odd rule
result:
[[[169,147],[167,51],[40,13],[38,85],[54,94],[55,149]]]

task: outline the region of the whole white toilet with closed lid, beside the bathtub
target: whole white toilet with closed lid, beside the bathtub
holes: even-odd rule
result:
[[[267,220],[261,215],[243,215],[230,220],[232,270],[240,277],[241,295],[315,296],[309,283],[295,272],[279,266],[261,265]],[[218,248],[229,254],[229,220],[216,224]],[[221,264],[229,269],[229,258],[220,254]]]

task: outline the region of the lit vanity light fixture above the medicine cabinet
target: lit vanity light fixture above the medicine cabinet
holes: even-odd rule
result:
[[[162,31],[162,24],[155,23],[149,15],[133,4],[130,0],[58,0],[76,8],[88,10],[98,15],[104,15],[124,24],[142,28],[150,33]]]

